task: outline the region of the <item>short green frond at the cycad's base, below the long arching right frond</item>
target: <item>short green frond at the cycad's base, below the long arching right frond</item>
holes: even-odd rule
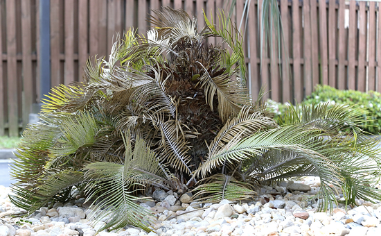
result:
[[[256,196],[254,186],[236,180],[233,176],[215,174],[202,179],[202,184],[193,189],[196,194],[193,199],[218,203],[224,199],[229,201],[240,201]]]

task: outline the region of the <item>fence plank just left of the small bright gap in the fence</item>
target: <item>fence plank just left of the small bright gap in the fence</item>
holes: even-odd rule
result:
[[[346,90],[345,56],[346,56],[346,29],[345,29],[345,0],[339,1],[339,65],[337,67],[337,88]]]

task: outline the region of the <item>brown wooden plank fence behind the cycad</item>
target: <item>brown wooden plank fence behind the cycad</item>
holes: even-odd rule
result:
[[[89,56],[107,56],[116,32],[150,28],[145,18],[161,6],[183,8],[202,19],[202,9],[225,8],[227,0],[51,0],[51,85],[82,79]],[[317,83],[339,89],[381,90],[380,4],[366,1],[280,0],[285,47],[263,47],[260,58],[258,12],[251,0],[245,30],[248,85],[256,99],[301,101]],[[231,19],[240,24],[245,1]],[[247,8],[246,8],[247,9]],[[19,135],[39,102],[39,0],[0,0],[0,135]],[[198,21],[199,28],[204,26]],[[212,43],[219,43],[220,40]],[[278,50],[281,54],[279,60]],[[287,60],[288,55],[290,60]],[[289,68],[289,69],[287,69]]]

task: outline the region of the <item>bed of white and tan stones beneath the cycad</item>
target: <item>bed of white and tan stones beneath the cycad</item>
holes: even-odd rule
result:
[[[152,193],[156,201],[140,203],[157,217],[154,232],[126,226],[98,235],[381,235],[381,204],[358,200],[354,208],[339,204],[331,211],[317,212],[318,203],[312,196],[319,185],[319,178],[281,182],[274,188],[263,187],[255,201],[218,204],[191,202],[190,194],[182,194],[176,201],[176,192],[157,189]],[[41,208],[30,217],[11,218],[10,214],[25,211],[10,203],[8,187],[0,186],[0,194],[0,236],[93,236],[108,220],[94,224],[94,219],[87,217],[89,203],[79,195],[76,201]]]

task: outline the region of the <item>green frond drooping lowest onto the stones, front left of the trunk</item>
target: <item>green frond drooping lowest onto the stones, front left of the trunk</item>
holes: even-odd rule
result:
[[[123,137],[123,140],[125,137]],[[125,142],[124,165],[111,162],[94,162],[85,166],[86,178],[89,180],[87,189],[88,199],[98,196],[91,217],[96,221],[104,217],[110,220],[103,228],[121,228],[127,224],[138,226],[145,230],[153,220],[150,211],[140,207],[134,201],[138,198],[132,196],[134,185],[153,184],[157,187],[170,183],[166,173],[155,158],[155,154],[147,149],[143,140],[136,139],[132,151],[130,136]],[[94,201],[95,203],[96,201]]]

